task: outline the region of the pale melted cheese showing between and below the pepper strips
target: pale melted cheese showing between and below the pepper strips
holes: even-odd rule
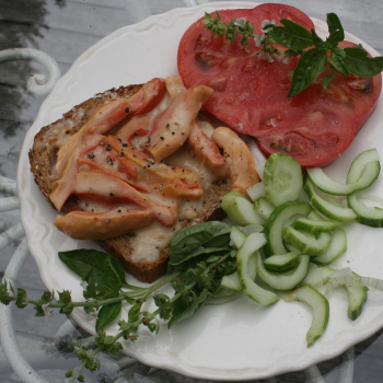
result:
[[[169,96],[169,94],[166,94],[159,103],[159,105],[148,113],[148,115],[152,116],[150,123],[150,134],[153,128],[154,119],[163,114],[171,102],[172,98]],[[206,129],[209,130],[210,127],[211,126],[207,126]],[[62,137],[60,137],[57,142],[58,147],[62,146],[67,138],[68,135],[62,134]],[[150,142],[150,139],[148,140],[148,137],[135,137],[130,140],[130,143],[139,150],[146,149],[147,142]],[[88,154],[91,155],[85,155],[85,158],[90,158],[92,160],[94,159],[93,161],[103,167],[109,169],[111,171],[118,171],[118,159],[108,162],[108,152],[105,152],[105,148],[98,146],[97,148],[94,148],[92,153]],[[187,146],[182,146],[175,153],[170,155],[163,162],[169,165],[181,166],[183,169],[192,171],[196,175],[195,178],[199,179],[204,189],[209,188],[211,184],[217,181],[217,177],[204,164],[204,160],[199,159]],[[138,170],[137,183],[146,186],[147,189],[150,190],[148,196],[150,196],[154,202],[161,206],[166,206],[172,210],[177,211],[178,217],[176,223],[171,227],[165,227],[159,221],[154,220],[151,224],[130,232],[131,236],[129,237],[129,246],[131,247],[131,253],[129,255],[129,258],[136,264],[140,264],[140,262],[152,263],[158,260],[161,252],[170,245],[172,237],[181,229],[181,222],[198,218],[198,214],[200,213],[201,208],[206,201],[204,196],[199,199],[185,199],[175,197],[165,198],[162,192],[164,185],[161,184],[163,181],[161,181],[161,178],[159,181],[156,179],[158,177],[155,175],[142,171],[142,166],[140,167],[138,164],[135,164],[135,166]],[[88,199],[80,201],[80,208],[84,211],[105,212],[111,210],[111,205],[102,202],[100,200]],[[131,204],[124,204],[121,205],[121,208],[135,209],[137,206]]]

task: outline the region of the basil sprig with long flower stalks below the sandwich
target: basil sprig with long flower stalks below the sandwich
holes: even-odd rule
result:
[[[171,327],[195,314],[220,289],[222,277],[235,270],[236,260],[229,242],[230,227],[218,221],[178,231],[171,244],[169,276],[148,288],[127,283],[123,265],[106,253],[94,249],[62,252],[59,258],[82,279],[84,301],[73,302],[68,290],[58,292],[57,302],[53,291],[45,291],[40,299],[30,299],[24,289],[15,291],[5,280],[0,285],[0,302],[7,305],[14,302],[19,309],[33,305],[35,316],[50,316],[54,309],[70,314],[74,307],[82,307],[89,318],[96,318],[97,346],[94,349],[81,346],[76,351],[80,368],[66,374],[83,382],[84,368],[92,372],[100,369],[96,358],[100,351],[119,353],[123,349],[120,339],[135,341],[140,326],[156,334],[160,320]],[[165,285],[173,287],[173,297],[158,292]],[[149,298],[158,307],[153,312],[142,310]],[[123,304],[130,304],[128,316],[118,322],[115,336],[107,335],[105,328],[120,314]]]

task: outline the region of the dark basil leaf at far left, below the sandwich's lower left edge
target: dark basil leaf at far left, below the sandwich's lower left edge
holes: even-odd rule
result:
[[[59,252],[58,256],[82,280],[86,279],[93,268],[97,290],[101,290],[105,286],[106,274],[113,274],[121,286],[126,286],[124,266],[117,258],[109,254],[96,249],[81,248],[70,252]]]

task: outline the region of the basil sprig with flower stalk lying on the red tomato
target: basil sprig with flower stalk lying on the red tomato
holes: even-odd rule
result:
[[[322,81],[326,90],[337,72],[345,77],[350,73],[357,77],[373,77],[383,70],[383,57],[369,57],[361,45],[350,48],[338,47],[345,39],[345,32],[335,13],[327,14],[329,35],[325,40],[314,30],[307,31],[287,19],[280,20],[282,26],[266,20],[262,25],[264,34],[260,35],[254,34],[254,26],[243,18],[231,20],[227,25],[221,22],[218,11],[216,14],[216,18],[205,14],[204,28],[211,31],[212,35],[224,36],[230,44],[235,42],[236,35],[242,35],[242,48],[248,50],[248,38],[254,38],[256,46],[263,45],[260,57],[269,61],[274,61],[272,57],[283,57],[287,62],[289,57],[300,56],[293,71],[289,97],[302,92],[322,73],[327,73]],[[276,44],[287,50],[280,51]]]

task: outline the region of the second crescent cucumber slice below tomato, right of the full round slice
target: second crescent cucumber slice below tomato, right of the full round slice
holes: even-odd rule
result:
[[[321,197],[314,188],[314,184],[310,177],[304,179],[304,189],[309,196],[309,199],[313,207],[320,211],[323,216],[341,222],[351,222],[357,219],[357,214],[352,209],[336,206],[325,198]]]

